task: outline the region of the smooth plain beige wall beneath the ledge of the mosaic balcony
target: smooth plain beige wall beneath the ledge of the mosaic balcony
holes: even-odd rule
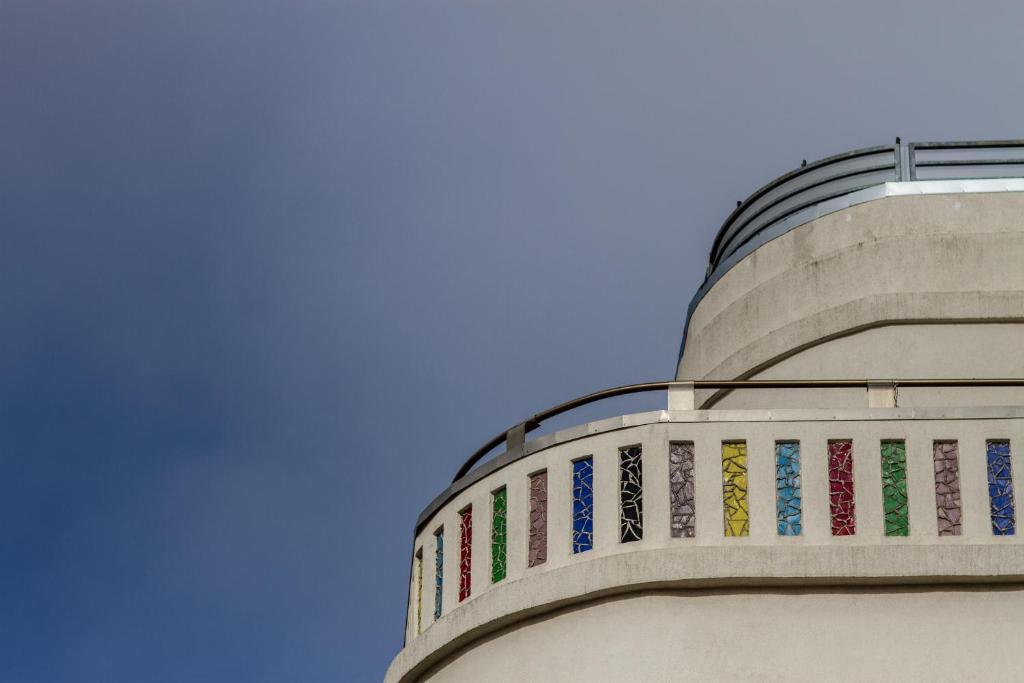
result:
[[[1014,680],[1022,609],[1019,586],[640,593],[506,629],[422,680]]]

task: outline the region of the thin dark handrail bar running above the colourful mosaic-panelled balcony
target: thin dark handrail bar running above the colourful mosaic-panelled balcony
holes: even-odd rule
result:
[[[648,391],[665,391],[673,387],[693,390],[701,389],[867,389],[877,386],[892,386],[904,388],[922,387],[1024,387],[1024,379],[1017,378],[971,378],[971,379],[883,379],[883,380],[694,380],[665,381],[665,382],[644,382],[641,384],[627,384],[595,391],[585,396],[580,396],[554,408],[541,411],[528,419],[514,425],[504,432],[495,435],[486,443],[481,445],[462,464],[456,472],[452,483],[459,481],[473,469],[473,466],[480,462],[484,456],[494,451],[505,441],[507,452],[521,452],[525,445],[525,435],[541,426],[545,420],[567,413],[577,408],[595,403],[605,398],[625,396],[634,393],[645,393]]]

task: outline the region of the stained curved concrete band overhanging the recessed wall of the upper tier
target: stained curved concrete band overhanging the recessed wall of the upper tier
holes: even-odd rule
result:
[[[1021,216],[1024,193],[934,195],[889,197],[803,224],[707,291],[677,377],[750,377],[881,325],[1024,322]]]

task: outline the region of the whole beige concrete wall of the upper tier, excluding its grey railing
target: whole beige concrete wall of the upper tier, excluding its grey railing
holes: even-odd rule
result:
[[[677,377],[1019,377],[1024,356],[1011,350],[1024,340],[1021,263],[1024,194],[889,197],[853,206],[776,238],[726,272],[690,318]],[[973,324],[980,322],[1001,325]],[[710,407],[711,396],[702,393],[698,404]],[[945,402],[941,392],[929,392],[913,404],[1021,397],[979,389]],[[725,404],[833,400],[856,404],[838,393],[771,392]]]

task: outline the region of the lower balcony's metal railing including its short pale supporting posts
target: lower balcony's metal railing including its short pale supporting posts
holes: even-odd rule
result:
[[[549,408],[523,420],[515,426],[495,435],[476,450],[456,472],[452,483],[465,477],[483,458],[505,443],[506,454],[515,458],[525,453],[526,434],[541,426],[545,420],[567,413],[577,408],[596,403],[615,396],[625,396],[648,391],[668,391],[670,411],[694,410],[694,392],[705,389],[865,389],[869,408],[896,408],[897,392],[900,388],[924,387],[1024,387],[1024,379],[909,379],[909,380],[695,380],[692,382],[644,382],[612,387],[602,391],[567,400]]]

